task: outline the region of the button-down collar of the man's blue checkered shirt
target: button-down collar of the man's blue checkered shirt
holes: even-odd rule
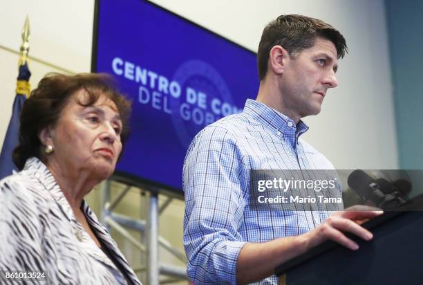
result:
[[[280,132],[283,135],[290,134],[294,131],[295,137],[299,138],[301,134],[304,134],[308,130],[308,125],[302,120],[299,120],[296,124],[288,116],[256,100],[247,99],[243,113],[261,123],[261,125],[265,125],[272,131],[276,133]]]

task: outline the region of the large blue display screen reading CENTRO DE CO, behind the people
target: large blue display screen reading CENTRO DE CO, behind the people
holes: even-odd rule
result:
[[[176,192],[194,136],[259,86],[254,52],[142,0],[96,2],[92,69],[133,102],[116,174]]]

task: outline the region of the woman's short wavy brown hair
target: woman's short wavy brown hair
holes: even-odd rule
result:
[[[106,73],[79,73],[63,75],[48,73],[31,92],[30,98],[21,110],[21,126],[19,127],[19,145],[13,150],[12,159],[18,169],[22,169],[31,156],[42,158],[39,133],[49,126],[54,126],[60,113],[68,104],[69,98],[77,91],[84,89],[88,93],[87,102],[79,102],[83,106],[91,106],[100,95],[105,95],[118,107],[122,120],[120,135],[122,146],[129,136],[129,116],[131,101],[127,100],[116,88],[111,75]]]

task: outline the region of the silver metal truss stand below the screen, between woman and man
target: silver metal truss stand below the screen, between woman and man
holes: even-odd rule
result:
[[[142,187],[142,190],[149,193],[149,195],[146,195],[146,197],[148,196],[149,201],[149,211],[146,218],[147,221],[143,219],[134,219],[132,217],[118,214],[114,212],[114,210],[116,205],[124,199],[124,196],[129,192],[131,187],[140,187],[140,185],[137,183],[130,183],[131,181],[122,182],[118,180],[118,182],[124,183],[126,187],[124,190],[121,190],[113,201],[111,201],[111,179],[102,183],[102,212],[100,220],[104,223],[104,225],[106,225],[109,231],[113,228],[113,230],[117,231],[120,235],[122,235],[122,237],[135,246],[135,248],[138,248],[141,252],[146,253],[146,260],[144,263],[146,266],[134,268],[135,273],[147,271],[147,283],[143,282],[145,283],[144,285],[171,284],[184,279],[187,280],[185,268],[170,264],[162,264],[160,263],[158,257],[159,247],[162,247],[170,252],[171,255],[187,264],[185,253],[180,251],[178,248],[173,247],[167,239],[161,237],[158,230],[160,214],[167,208],[175,197],[173,195],[167,195],[166,192],[160,192],[160,195],[167,196],[167,200],[162,203],[159,208],[158,189],[145,189],[145,187]],[[140,194],[142,193],[142,190],[140,189]],[[127,229],[140,232],[142,240],[147,241],[147,243],[135,239]],[[160,277],[164,278],[160,279]]]

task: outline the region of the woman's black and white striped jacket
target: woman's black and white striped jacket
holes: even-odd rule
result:
[[[106,228],[86,203],[82,207],[130,284],[141,284]],[[113,273],[120,275],[75,219],[55,178],[37,158],[0,181],[0,270],[47,270],[47,282],[40,284],[116,284]]]

